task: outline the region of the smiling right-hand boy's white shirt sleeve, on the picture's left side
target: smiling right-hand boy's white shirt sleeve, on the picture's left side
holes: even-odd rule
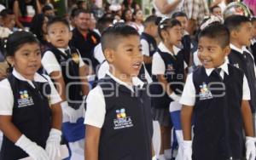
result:
[[[193,83],[193,73],[187,77],[183,94],[179,103],[185,106],[195,106],[195,85]]]

